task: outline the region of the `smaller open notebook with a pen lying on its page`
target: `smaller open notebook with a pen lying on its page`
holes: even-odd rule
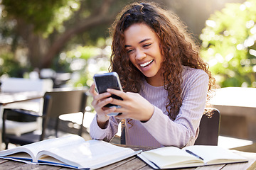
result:
[[[160,147],[138,154],[154,169],[175,169],[213,164],[247,162],[228,149],[218,146],[194,145],[189,147]]]

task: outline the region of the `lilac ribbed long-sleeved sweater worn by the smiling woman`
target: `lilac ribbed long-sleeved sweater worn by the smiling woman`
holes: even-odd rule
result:
[[[144,81],[139,94],[154,106],[154,113],[146,123],[132,120],[132,127],[126,120],[127,145],[184,147],[194,144],[206,106],[208,75],[201,69],[183,67],[182,79],[181,98],[183,102],[175,120],[167,116],[165,108],[167,91],[164,86],[151,86]],[[96,116],[90,125],[90,136],[92,139],[109,142],[117,133],[121,120],[110,117],[106,128],[101,129],[97,125]]]

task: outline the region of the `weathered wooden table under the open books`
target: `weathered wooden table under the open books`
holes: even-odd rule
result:
[[[148,147],[134,147],[134,146],[127,146],[127,145],[119,145],[123,147],[131,147],[134,150],[140,150],[142,149],[143,151],[151,149]],[[213,166],[201,166],[197,168],[189,168],[186,170],[204,170],[204,169],[222,169],[222,170],[234,170],[234,169],[242,169],[242,170],[255,170],[256,169],[256,153],[249,153],[249,152],[238,152],[238,151],[233,151],[237,154],[240,154],[242,157],[246,157],[249,162],[247,163],[237,163],[237,164],[219,164],[219,165],[213,165]],[[68,170],[69,168],[63,168],[60,166],[49,166],[49,165],[35,165],[35,164],[25,164],[22,162],[14,162],[6,159],[0,159],[0,169],[46,169],[46,170]],[[148,166],[146,163],[144,163],[141,159],[138,157],[130,157],[128,159],[124,159],[120,162],[111,164],[109,166],[105,166],[101,168],[100,170],[107,170],[107,169],[131,169],[131,170],[136,170],[136,169],[141,169],[141,170],[146,170],[146,169],[151,169],[150,166]],[[184,170],[184,169],[183,169]]]

